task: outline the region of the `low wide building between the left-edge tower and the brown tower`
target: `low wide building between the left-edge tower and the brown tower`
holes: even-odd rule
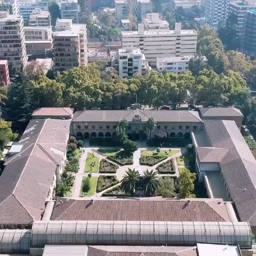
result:
[[[28,55],[46,57],[53,48],[52,27],[24,27]]]

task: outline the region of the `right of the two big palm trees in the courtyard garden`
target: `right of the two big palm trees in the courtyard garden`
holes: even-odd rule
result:
[[[155,196],[161,187],[161,183],[156,177],[156,171],[149,171],[148,169],[143,172],[143,192],[146,197]]]

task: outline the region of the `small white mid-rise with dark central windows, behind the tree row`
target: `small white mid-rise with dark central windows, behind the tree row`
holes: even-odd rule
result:
[[[145,55],[140,49],[118,49],[116,58],[112,61],[122,78],[133,78],[136,74],[144,75],[151,70]]]

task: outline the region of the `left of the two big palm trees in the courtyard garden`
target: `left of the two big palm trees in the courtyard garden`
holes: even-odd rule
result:
[[[128,171],[126,171],[126,174],[121,180],[121,188],[124,193],[133,196],[138,189],[139,178],[140,175],[137,170],[128,168]]]

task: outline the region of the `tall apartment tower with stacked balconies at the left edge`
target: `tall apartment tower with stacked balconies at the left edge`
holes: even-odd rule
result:
[[[0,60],[26,66],[28,57],[22,16],[0,12],[0,24]]]

